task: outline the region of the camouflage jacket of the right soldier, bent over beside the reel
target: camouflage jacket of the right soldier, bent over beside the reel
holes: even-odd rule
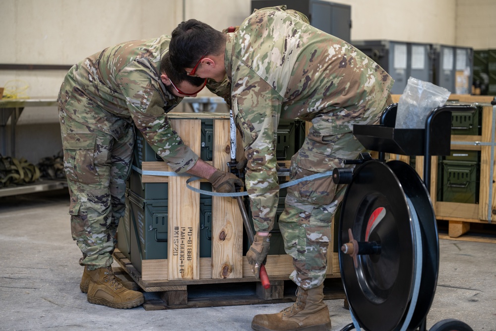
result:
[[[271,229],[279,119],[311,121],[313,134],[322,137],[352,132],[354,124],[378,118],[394,81],[365,54],[286,6],[257,10],[227,33],[225,64],[228,84],[209,88],[231,104],[248,158],[253,219],[257,229]]]

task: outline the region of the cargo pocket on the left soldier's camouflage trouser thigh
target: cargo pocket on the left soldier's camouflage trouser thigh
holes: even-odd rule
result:
[[[67,133],[62,139],[64,150],[64,169],[68,180],[82,184],[99,181],[95,171],[94,133]]]

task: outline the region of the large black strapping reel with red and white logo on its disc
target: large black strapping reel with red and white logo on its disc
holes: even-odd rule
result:
[[[341,277],[358,326],[413,331],[434,298],[438,239],[429,194],[404,162],[359,166],[340,215]],[[351,252],[353,251],[353,252]]]

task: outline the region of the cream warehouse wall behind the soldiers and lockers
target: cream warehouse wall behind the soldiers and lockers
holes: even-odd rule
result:
[[[496,48],[495,20],[489,17],[496,12],[495,0],[332,2],[351,5],[353,40]],[[54,65],[72,65],[122,41],[170,34],[184,19],[196,18],[217,29],[238,25],[251,7],[250,0],[0,0],[0,4],[0,64]],[[17,85],[20,96],[55,97],[65,72],[0,70],[0,86]],[[200,96],[211,94],[202,91]],[[37,161],[38,155],[32,155],[32,147],[23,140],[57,136],[52,132],[56,126],[43,125],[57,122],[55,107],[26,108],[18,122],[17,155]],[[36,154],[48,156],[60,148],[43,145]]]

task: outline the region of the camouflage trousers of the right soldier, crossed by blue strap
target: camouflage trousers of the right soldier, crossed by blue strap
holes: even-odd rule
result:
[[[310,129],[303,147],[291,159],[291,180],[344,167],[345,159],[355,159],[365,150],[351,132],[314,133]],[[286,253],[293,257],[295,270],[290,278],[302,288],[317,287],[325,279],[331,222],[344,192],[344,185],[334,184],[332,176],[288,187],[279,228]]]

